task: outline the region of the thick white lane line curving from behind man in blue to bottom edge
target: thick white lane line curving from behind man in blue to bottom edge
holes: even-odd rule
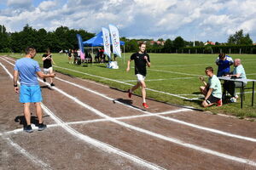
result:
[[[0,65],[3,67],[3,69],[4,69],[5,71],[7,71],[7,73],[9,74],[9,77],[11,77],[11,78],[13,79],[13,76],[12,76],[12,75],[10,74],[10,72],[5,68],[5,66],[2,65],[1,62],[0,62]],[[131,155],[130,153],[127,153],[127,152],[125,152],[125,151],[123,151],[123,150],[119,150],[118,148],[115,148],[115,147],[113,147],[113,146],[110,145],[110,144],[105,144],[105,143],[103,143],[103,142],[101,142],[101,141],[99,141],[99,140],[92,139],[92,138],[90,138],[89,136],[86,136],[86,135],[84,135],[84,134],[82,134],[82,133],[79,133],[78,131],[76,131],[76,130],[73,129],[72,127],[69,127],[69,126],[67,125],[67,123],[62,122],[61,119],[60,119],[59,117],[55,116],[55,114],[54,114],[53,112],[49,111],[49,109],[48,109],[43,103],[41,103],[41,105],[42,105],[42,109],[43,109],[53,120],[55,120],[55,122],[56,122],[59,126],[63,127],[68,133],[73,134],[73,136],[75,136],[75,137],[77,137],[77,138],[79,138],[79,139],[82,139],[82,140],[84,140],[85,142],[87,142],[87,143],[89,143],[89,144],[93,144],[93,145],[96,146],[97,148],[99,148],[99,149],[101,149],[101,150],[104,150],[104,151],[106,151],[107,153],[110,152],[110,153],[117,154],[117,155],[119,155],[119,156],[123,156],[123,157],[125,157],[125,158],[127,158],[127,159],[129,159],[129,160],[131,160],[131,161],[136,162],[137,164],[139,164],[139,165],[141,165],[141,166],[143,166],[143,167],[148,167],[148,168],[150,168],[150,169],[156,169],[156,170],[157,170],[157,169],[165,169],[165,168],[163,168],[163,167],[160,167],[160,166],[158,166],[158,165],[155,165],[154,163],[151,163],[151,162],[149,162],[149,161],[145,161],[145,160],[139,158],[138,156],[133,156],[133,155]],[[25,150],[25,151],[26,151],[26,150]]]

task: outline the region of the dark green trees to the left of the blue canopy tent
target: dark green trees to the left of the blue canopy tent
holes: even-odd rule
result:
[[[77,34],[80,34],[83,40],[95,36],[94,33],[69,29],[67,26],[60,26],[55,31],[46,31],[44,28],[36,30],[26,25],[22,31],[13,33],[7,32],[5,26],[1,26],[0,31],[0,52],[5,53],[21,53],[27,46],[32,46],[41,53],[47,48],[56,53],[65,49],[79,48]]]

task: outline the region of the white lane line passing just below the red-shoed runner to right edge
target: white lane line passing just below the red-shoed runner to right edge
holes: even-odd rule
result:
[[[76,83],[73,83],[73,82],[68,82],[66,80],[63,80],[59,77],[56,77],[57,80],[61,81],[61,82],[66,82],[68,84],[71,84],[77,88],[81,88],[81,89],[84,89],[85,91],[88,91],[92,94],[96,94],[96,95],[99,95],[101,96],[102,98],[104,99],[108,99],[108,100],[111,100],[113,101],[114,99],[106,96],[105,94],[101,94],[101,93],[98,93],[90,88],[85,88],[83,86],[80,86],[79,84],[76,84]],[[119,103],[121,105],[125,105],[124,103],[122,102],[119,102],[119,101],[115,101],[116,103]],[[142,111],[142,110],[139,110],[137,108],[134,108],[134,107],[131,107],[131,105],[125,105],[127,107],[130,107],[132,109],[135,109],[137,111]],[[177,110],[177,111],[192,111],[190,109],[181,109],[181,110]],[[202,126],[199,126],[199,125],[195,125],[193,123],[189,123],[189,122],[183,122],[183,121],[179,121],[178,119],[174,119],[174,118],[171,118],[171,117],[166,117],[166,116],[159,116],[159,115],[162,115],[162,113],[158,114],[154,114],[154,113],[151,113],[151,112],[148,112],[148,111],[143,111],[144,113],[148,114],[148,115],[152,115],[152,116],[157,116],[157,117],[160,117],[161,119],[165,119],[167,121],[171,121],[171,122],[177,122],[179,124],[183,124],[185,126],[189,126],[189,127],[195,127],[195,128],[198,128],[198,129],[201,129],[201,130],[205,130],[205,131],[208,131],[208,132],[212,132],[212,133],[218,133],[218,134],[222,134],[222,135],[225,135],[225,136],[229,136],[229,137],[233,137],[233,138],[236,138],[236,139],[243,139],[243,140],[248,140],[248,141],[251,141],[251,142],[256,142],[256,139],[253,139],[253,138],[249,138],[249,137],[245,137],[245,136],[241,136],[241,135],[237,135],[237,134],[233,134],[233,133],[226,133],[224,131],[220,131],[220,130],[217,130],[217,129],[213,129],[213,128],[209,128],[209,127],[202,127]],[[170,112],[170,111],[166,111],[167,113]]]

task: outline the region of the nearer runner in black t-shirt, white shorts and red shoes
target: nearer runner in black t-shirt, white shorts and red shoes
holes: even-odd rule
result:
[[[130,71],[130,64],[131,60],[134,60],[135,63],[135,75],[137,76],[137,84],[132,88],[128,89],[128,96],[131,98],[132,92],[134,92],[137,88],[142,87],[142,94],[143,94],[143,107],[148,108],[146,103],[146,83],[145,77],[147,75],[146,66],[150,67],[150,59],[149,55],[145,53],[146,44],[140,43],[139,44],[139,52],[132,54],[131,59],[128,60],[127,69],[126,71]]]

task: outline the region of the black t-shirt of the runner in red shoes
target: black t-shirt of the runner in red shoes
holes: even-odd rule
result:
[[[137,52],[137,53],[131,55],[131,60],[134,60],[134,63],[135,63],[135,74],[136,75],[141,74],[144,77],[146,77],[146,75],[147,75],[147,70],[146,70],[147,61],[146,61],[146,59],[144,59],[145,56],[148,57],[148,62],[150,62],[149,55],[146,53],[139,54]]]

